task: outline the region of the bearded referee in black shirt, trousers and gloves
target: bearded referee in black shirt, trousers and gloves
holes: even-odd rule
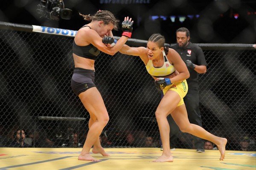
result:
[[[172,48],[180,54],[180,57],[186,63],[190,77],[186,79],[188,83],[188,92],[183,98],[189,117],[189,122],[202,127],[201,113],[199,110],[199,84],[198,74],[204,74],[207,71],[207,62],[202,49],[190,42],[190,33],[187,28],[179,28],[176,31],[177,44]],[[170,140],[172,144],[177,142],[178,128],[172,116],[167,117],[170,124]],[[204,140],[193,136],[193,142],[197,153],[204,153]],[[171,144],[171,145],[172,145]],[[175,146],[171,146],[175,147]]]

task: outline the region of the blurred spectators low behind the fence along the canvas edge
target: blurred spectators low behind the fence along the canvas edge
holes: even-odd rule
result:
[[[0,147],[83,147],[87,132],[81,133],[67,129],[63,134],[54,134],[53,130],[34,131],[13,127],[6,130],[0,125]],[[105,130],[99,137],[102,147],[160,147],[160,139],[156,134],[148,134],[143,130],[125,131]],[[175,147],[195,149],[189,134],[179,133]],[[218,150],[210,141],[205,141],[204,149]],[[227,150],[255,151],[255,136],[243,136],[239,140],[228,139]]]

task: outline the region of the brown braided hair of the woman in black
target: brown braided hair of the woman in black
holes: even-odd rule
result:
[[[119,20],[116,19],[116,17],[114,16],[114,14],[112,14],[110,11],[97,11],[96,14],[94,15],[83,15],[80,14],[82,17],[84,17],[84,20],[87,21],[103,21],[105,25],[108,25],[109,23],[112,23],[114,25],[114,30],[118,29],[118,23]]]

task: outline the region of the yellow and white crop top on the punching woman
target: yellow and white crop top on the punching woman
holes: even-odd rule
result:
[[[174,66],[168,61],[164,50],[163,50],[163,59],[164,59],[163,66],[160,68],[155,68],[152,63],[152,60],[148,61],[146,65],[146,69],[151,76],[165,77],[172,74],[175,71]]]

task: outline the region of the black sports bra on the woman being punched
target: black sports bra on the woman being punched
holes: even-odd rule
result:
[[[83,26],[86,27],[86,26]],[[81,28],[83,28],[81,27]],[[87,26],[90,28],[90,26]],[[91,28],[90,28],[91,29]],[[73,53],[78,55],[79,57],[84,57],[88,59],[96,59],[96,56],[99,55],[100,51],[98,48],[93,46],[92,44],[86,45],[86,46],[79,46],[76,45],[75,39],[73,40]]]

